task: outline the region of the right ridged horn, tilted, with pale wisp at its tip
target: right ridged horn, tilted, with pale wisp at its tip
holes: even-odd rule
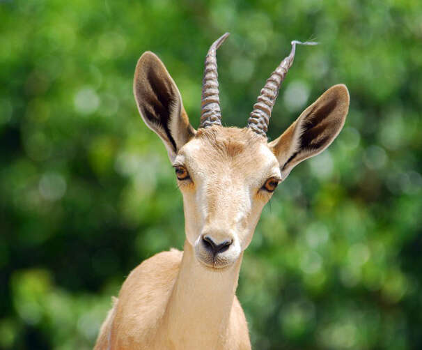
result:
[[[312,41],[306,41],[302,43],[297,40],[292,41],[292,50],[290,54],[281,61],[280,65],[274,70],[272,75],[269,76],[265,86],[260,91],[257,102],[253,105],[253,111],[248,119],[247,128],[251,128],[259,135],[265,136],[268,130],[269,118],[271,117],[272,108],[276,102],[276,98],[279,95],[279,89],[281,83],[286,77],[289,68],[293,64],[295,59],[296,44],[299,45],[317,45]]]

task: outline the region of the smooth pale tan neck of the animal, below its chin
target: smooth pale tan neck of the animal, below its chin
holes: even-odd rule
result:
[[[185,349],[216,349],[228,329],[239,277],[240,258],[228,268],[211,269],[185,242],[180,271],[164,319],[170,339]]]

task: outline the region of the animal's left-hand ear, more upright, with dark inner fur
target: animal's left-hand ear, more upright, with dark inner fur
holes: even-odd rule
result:
[[[145,52],[136,64],[133,90],[143,121],[162,139],[173,162],[196,131],[189,123],[178,87],[153,52]]]

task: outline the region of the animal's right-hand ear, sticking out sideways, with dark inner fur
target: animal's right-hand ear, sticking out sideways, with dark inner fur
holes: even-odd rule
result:
[[[268,144],[279,160],[281,176],[305,160],[324,151],[343,128],[350,96],[343,84],[331,86],[278,139]]]

